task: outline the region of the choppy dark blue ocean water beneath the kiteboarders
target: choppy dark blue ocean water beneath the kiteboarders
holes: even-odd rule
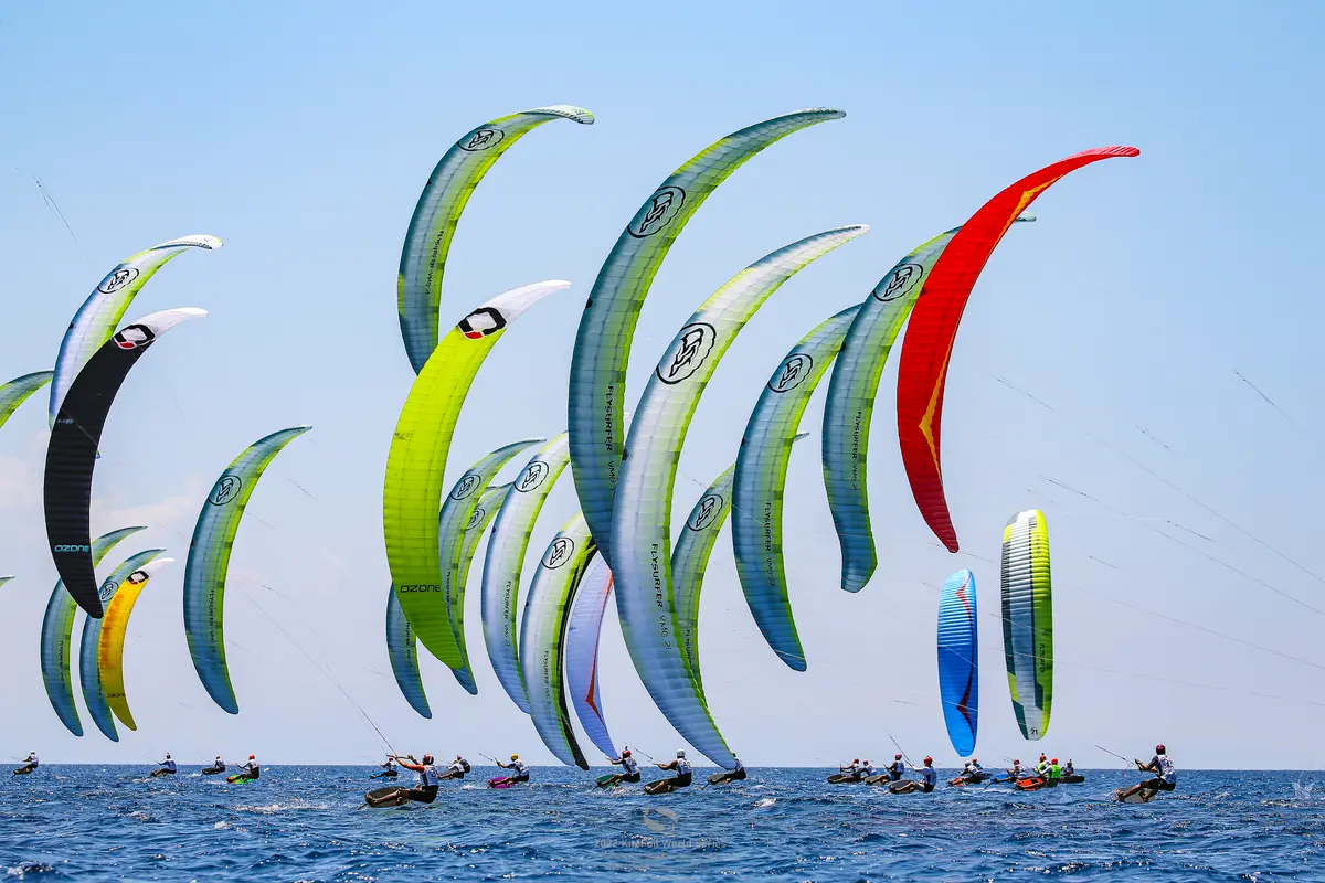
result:
[[[227,785],[143,768],[42,767],[0,782],[0,872],[32,880],[1325,880],[1312,773],[1183,772],[1147,805],[1136,773],[1085,785],[893,796],[827,769],[751,769],[647,797],[579,770],[445,782],[431,806],[360,809],[363,767],[269,767]],[[594,770],[602,774],[610,770]],[[701,770],[706,772],[706,770]],[[399,782],[412,782],[401,776]],[[649,778],[645,774],[645,778]],[[1321,776],[1325,782],[1325,776]]]

